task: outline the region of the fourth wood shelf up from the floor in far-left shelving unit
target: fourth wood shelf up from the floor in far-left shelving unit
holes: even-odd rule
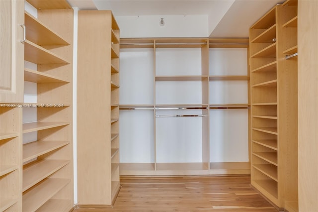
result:
[[[22,162],[24,163],[69,143],[69,141],[34,141],[24,144]]]

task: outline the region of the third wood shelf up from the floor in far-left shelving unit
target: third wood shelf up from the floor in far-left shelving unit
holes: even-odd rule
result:
[[[25,192],[69,163],[69,160],[38,160],[25,165],[23,167],[22,191]]]

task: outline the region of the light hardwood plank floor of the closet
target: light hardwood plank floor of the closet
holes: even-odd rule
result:
[[[113,208],[74,212],[278,212],[249,176],[121,177],[121,184]]]

